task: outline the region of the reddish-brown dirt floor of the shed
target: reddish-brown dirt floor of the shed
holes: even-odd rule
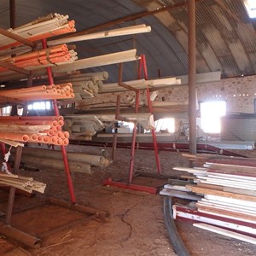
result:
[[[102,150],[85,146],[69,148],[91,154],[101,154]],[[107,148],[107,151],[110,153],[110,149]],[[256,157],[256,151],[246,154]],[[91,175],[72,174],[77,202],[108,211],[110,219],[106,223],[89,219],[79,212],[45,204],[46,198],[52,196],[69,201],[64,171],[20,171],[21,175],[47,183],[47,189],[44,195],[15,198],[12,225],[41,238],[42,247],[31,249],[1,236],[0,255],[176,255],[167,236],[162,195],[102,186],[103,180],[108,177],[113,177],[114,180],[126,179],[129,159],[130,150],[119,148],[117,160],[108,168],[93,167]],[[164,175],[178,175],[172,171],[173,166],[189,166],[180,153],[160,152],[160,162]],[[154,152],[137,150],[135,170],[156,173]],[[4,212],[8,193],[0,190],[0,195],[0,212]],[[20,211],[25,207],[32,208]],[[67,224],[67,229],[57,229]],[[57,230],[51,231],[54,229]],[[198,230],[191,224],[182,222],[177,222],[177,229],[191,255],[256,255],[256,247],[247,242]]]

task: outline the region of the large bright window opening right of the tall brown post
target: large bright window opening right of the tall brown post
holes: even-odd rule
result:
[[[226,114],[226,102],[202,102],[201,129],[207,133],[220,133],[220,117]]]

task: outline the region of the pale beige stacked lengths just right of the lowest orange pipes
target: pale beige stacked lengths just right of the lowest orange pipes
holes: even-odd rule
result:
[[[154,129],[154,119],[151,113],[122,113],[119,119],[116,119],[114,114],[65,115],[63,130],[68,131],[73,139],[90,140],[97,131],[102,131],[118,120],[137,122],[146,130]]]

